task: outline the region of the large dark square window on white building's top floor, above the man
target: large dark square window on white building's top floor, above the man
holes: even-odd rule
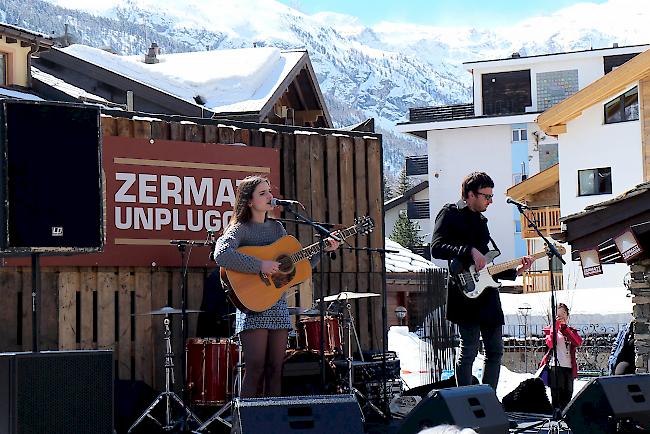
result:
[[[532,105],[530,70],[483,74],[483,114],[507,115],[525,113]]]

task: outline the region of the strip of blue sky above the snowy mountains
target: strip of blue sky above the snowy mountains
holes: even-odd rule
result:
[[[280,0],[306,14],[339,12],[365,25],[397,21],[434,26],[472,25],[490,28],[527,17],[548,15],[580,3],[576,0]],[[604,3],[605,0],[588,0]]]

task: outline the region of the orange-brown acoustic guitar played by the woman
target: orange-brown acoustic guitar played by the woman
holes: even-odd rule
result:
[[[337,236],[345,239],[367,234],[374,227],[370,217],[358,217],[354,226],[337,231]],[[296,238],[286,235],[267,246],[240,247],[237,251],[280,263],[280,270],[272,275],[241,273],[221,267],[221,280],[233,304],[243,312],[261,312],[273,306],[288,288],[311,278],[309,258],[318,254],[319,247],[314,243],[303,248]]]

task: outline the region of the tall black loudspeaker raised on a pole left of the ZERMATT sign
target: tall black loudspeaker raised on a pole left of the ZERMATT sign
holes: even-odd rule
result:
[[[2,101],[0,251],[101,250],[100,131],[97,107]]]

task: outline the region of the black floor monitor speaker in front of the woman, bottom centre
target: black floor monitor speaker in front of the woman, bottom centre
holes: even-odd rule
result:
[[[353,395],[240,399],[231,433],[363,433],[361,409]]]

